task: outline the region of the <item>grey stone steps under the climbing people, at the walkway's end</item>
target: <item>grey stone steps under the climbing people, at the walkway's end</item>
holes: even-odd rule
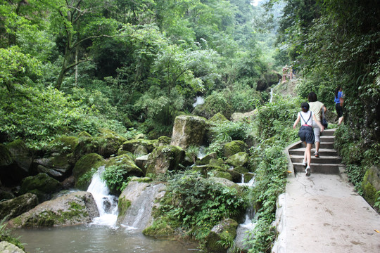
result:
[[[321,144],[319,146],[319,157],[314,156],[315,145],[312,146],[311,173],[319,174],[339,174],[341,157],[338,156],[334,149],[335,129],[327,129],[322,133]],[[302,165],[305,144],[301,141],[294,143],[288,148],[291,164],[295,173],[304,173],[305,166]]]

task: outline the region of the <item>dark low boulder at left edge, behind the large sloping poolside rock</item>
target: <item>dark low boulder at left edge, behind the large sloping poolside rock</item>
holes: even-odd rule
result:
[[[11,200],[0,202],[0,220],[7,216],[8,219],[15,218],[38,205],[38,197],[32,193],[25,193]]]

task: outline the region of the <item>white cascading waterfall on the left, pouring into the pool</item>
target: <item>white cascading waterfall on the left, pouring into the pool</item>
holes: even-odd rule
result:
[[[106,225],[114,227],[118,219],[118,198],[110,195],[110,190],[106,183],[101,180],[101,173],[104,166],[92,176],[91,183],[87,191],[92,194],[99,210],[99,217],[96,217],[91,224]]]

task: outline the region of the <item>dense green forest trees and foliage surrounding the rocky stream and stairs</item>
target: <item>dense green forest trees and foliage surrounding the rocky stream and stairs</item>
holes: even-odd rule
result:
[[[344,124],[336,148],[357,191],[380,206],[380,189],[362,183],[380,164],[377,0],[259,6],[251,0],[0,0],[0,13],[1,150],[22,140],[44,156],[57,138],[105,131],[125,140],[170,137],[179,115],[231,119],[256,110],[251,122],[214,124],[208,152],[223,159],[228,141],[250,146],[249,164],[260,181],[248,198],[260,216],[248,252],[269,252],[286,177],[281,150],[297,138],[291,124],[300,102],[315,91],[333,124],[334,90],[341,86]],[[298,95],[277,86],[269,103],[285,65],[293,66]],[[204,103],[194,107],[197,97]],[[189,186],[181,175],[174,179],[166,179],[173,189]],[[239,201],[236,208],[245,207]],[[198,240],[209,233],[200,228],[216,221],[202,222],[186,224]]]

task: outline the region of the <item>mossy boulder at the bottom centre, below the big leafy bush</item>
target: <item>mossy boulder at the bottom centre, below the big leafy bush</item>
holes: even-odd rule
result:
[[[236,237],[237,221],[225,219],[211,229],[205,239],[205,247],[208,252],[222,253],[227,252],[228,242],[233,242]],[[220,242],[226,242],[226,245]],[[229,245],[232,246],[232,245]]]

